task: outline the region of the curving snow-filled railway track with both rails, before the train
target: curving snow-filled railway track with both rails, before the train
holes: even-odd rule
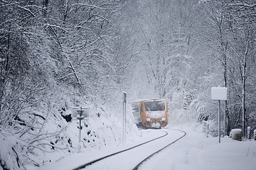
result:
[[[75,168],[73,170],[93,169],[92,166],[95,166],[95,164],[98,164],[100,162],[106,162],[107,159],[111,159],[111,158],[114,159],[114,160],[122,160],[121,162],[124,162],[125,161],[124,159],[127,159],[127,157],[131,157],[131,159],[132,159],[134,154],[141,154],[143,152],[143,150],[151,150],[151,149],[148,149],[148,148],[151,148],[152,146],[154,147],[158,143],[161,144],[163,141],[168,140],[168,138],[170,138],[168,136],[171,136],[168,131],[171,131],[171,132],[179,131],[179,132],[181,132],[181,134],[179,134],[177,137],[172,137],[169,142],[167,142],[167,143],[165,142],[164,145],[161,144],[161,146],[157,146],[157,148],[154,148],[150,153],[146,153],[145,155],[142,155],[142,157],[139,159],[139,161],[137,161],[137,163],[132,164],[131,167],[127,168],[127,169],[137,170],[137,169],[139,169],[139,166],[141,166],[149,158],[151,158],[155,154],[161,152],[161,150],[165,149],[166,147],[169,147],[170,145],[174,144],[174,142],[176,142],[178,140],[181,140],[181,138],[186,135],[186,132],[183,132],[181,130],[167,130],[167,129],[164,130],[163,129],[162,131],[164,131],[164,135],[161,135],[160,137],[156,137],[156,138],[154,138],[152,140],[149,140],[147,142],[143,142],[139,145],[135,145],[134,147],[129,147],[128,149],[124,149],[122,151],[115,152],[113,154],[109,154],[105,157],[101,157],[99,159],[92,160],[91,162],[87,162],[86,164],[82,164],[81,166],[78,166],[77,168]],[[114,157],[119,157],[119,158],[114,158]],[[118,162],[115,162],[115,163],[118,164]],[[111,163],[108,163],[108,164],[111,164]],[[122,166],[122,164],[120,164],[118,167],[119,167],[119,169],[120,168],[123,169],[123,167],[120,167],[120,166]],[[97,168],[95,168],[95,169],[97,169]],[[105,168],[105,169],[107,169],[107,168]],[[112,168],[109,167],[109,169],[112,169]]]

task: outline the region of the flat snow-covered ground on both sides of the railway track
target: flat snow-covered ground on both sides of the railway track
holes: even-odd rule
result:
[[[169,128],[184,130],[187,135],[142,164],[140,169],[256,169],[256,141],[254,140],[240,142],[231,140],[229,137],[223,137],[219,143],[218,137],[206,137],[201,127],[178,126]],[[140,132],[141,138],[135,142],[126,143],[124,146],[106,147],[95,152],[73,154],[58,162],[42,166],[40,170],[56,170],[64,169],[64,167],[65,169],[72,169],[96,157],[103,157],[106,154],[146,141],[151,135],[152,137],[157,136],[156,130],[140,130]],[[159,131],[159,135],[162,133]],[[122,160],[117,160],[117,162],[120,161]],[[90,166],[87,169],[90,169]]]

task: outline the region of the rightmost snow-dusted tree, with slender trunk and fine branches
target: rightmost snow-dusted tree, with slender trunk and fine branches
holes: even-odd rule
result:
[[[245,126],[252,125],[255,127],[256,123],[253,120],[255,110],[253,107],[255,88],[252,86],[255,74],[255,1],[230,1],[228,3],[228,12],[230,13],[231,32],[233,33],[232,54],[238,58],[239,62],[239,79],[240,82],[240,100],[242,110],[242,132],[245,137]],[[252,115],[252,117],[251,117]]]

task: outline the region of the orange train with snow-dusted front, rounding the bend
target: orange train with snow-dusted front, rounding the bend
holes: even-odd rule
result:
[[[132,114],[139,128],[164,128],[168,124],[168,103],[165,99],[133,101]]]

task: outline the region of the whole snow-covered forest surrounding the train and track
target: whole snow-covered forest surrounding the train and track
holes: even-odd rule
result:
[[[227,87],[225,134],[256,129],[255,0],[0,0],[0,12],[1,148],[13,139],[0,169],[67,149],[51,139],[73,106],[119,118],[122,91],[166,98],[183,123],[215,123],[210,88]]]

